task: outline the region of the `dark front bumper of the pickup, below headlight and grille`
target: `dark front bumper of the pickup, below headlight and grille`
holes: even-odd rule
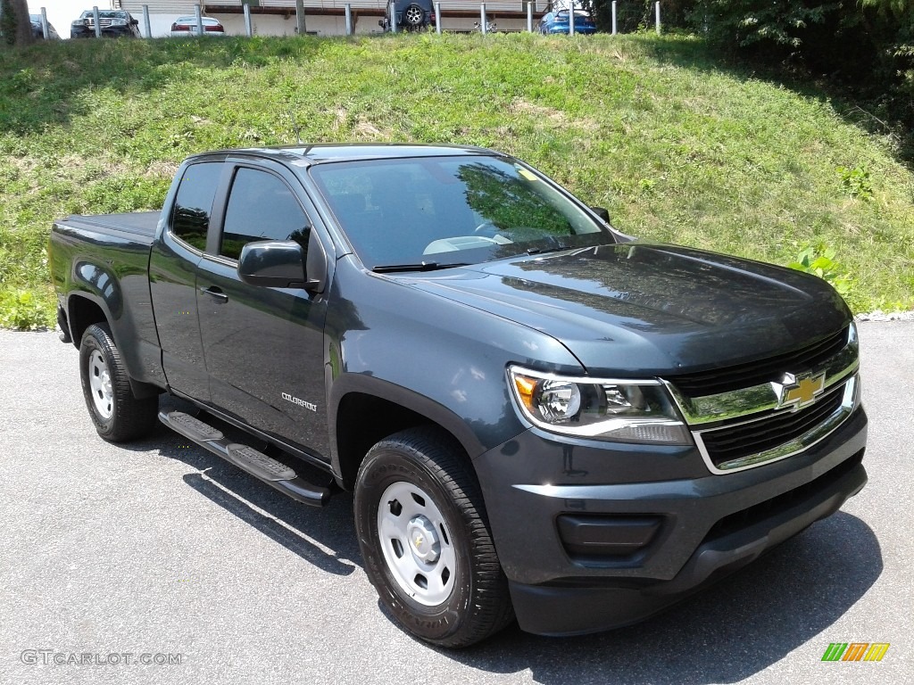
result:
[[[866,484],[865,447],[858,408],[802,453],[726,475],[696,448],[536,429],[475,467],[520,626],[570,635],[649,617],[834,513]]]

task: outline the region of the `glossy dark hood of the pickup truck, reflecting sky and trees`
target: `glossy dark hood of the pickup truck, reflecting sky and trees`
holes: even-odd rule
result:
[[[404,280],[547,333],[593,375],[677,374],[751,362],[821,340],[851,319],[822,279],[639,242]]]

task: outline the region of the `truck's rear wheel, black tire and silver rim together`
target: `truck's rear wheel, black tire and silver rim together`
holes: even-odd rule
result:
[[[133,440],[155,426],[159,399],[133,395],[130,376],[106,323],[93,324],[82,334],[80,381],[89,416],[104,439]]]

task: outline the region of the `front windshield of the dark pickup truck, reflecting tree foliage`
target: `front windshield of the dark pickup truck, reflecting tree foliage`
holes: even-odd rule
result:
[[[326,163],[311,174],[368,269],[471,264],[612,240],[546,179],[497,157]]]

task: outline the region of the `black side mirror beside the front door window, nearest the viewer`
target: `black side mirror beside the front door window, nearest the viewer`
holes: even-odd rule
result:
[[[294,240],[258,240],[241,248],[238,275],[264,288],[304,288],[323,292],[327,261],[320,240],[310,231],[308,249]]]

